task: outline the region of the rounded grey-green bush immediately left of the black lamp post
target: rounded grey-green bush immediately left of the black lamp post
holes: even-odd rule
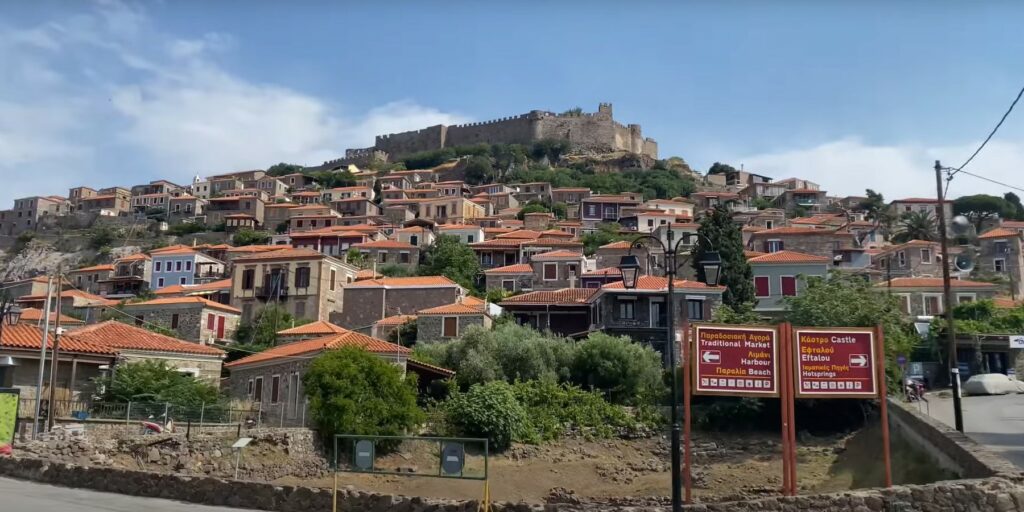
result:
[[[650,347],[594,333],[577,349],[571,376],[585,388],[601,390],[609,401],[639,403],[665,392],[662,370],[662,358]]]

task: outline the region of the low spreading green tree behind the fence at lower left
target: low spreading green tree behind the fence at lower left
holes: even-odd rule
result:
[[[178,372],[163,360],[119,365],[114,375],[99,379],[104,401],[156,401],[176,406],[215,403],[222,399],[217,387]]]

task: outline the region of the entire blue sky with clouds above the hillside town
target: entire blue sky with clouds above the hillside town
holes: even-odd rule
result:
[[[961,165],[1024,85],[1022,15],[941,0],[14,2],[0,208],[599,102],[695,170],[934,196],[935,160]],[[968,170],[1024,187],[1021,169],[1015,111]],[[962,174],[949,194],[1008,190]]]

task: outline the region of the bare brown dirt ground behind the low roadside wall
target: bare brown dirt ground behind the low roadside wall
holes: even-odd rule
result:
[[[870,432],[860,434],[870,436]],[[798,478],[807,492],[846,490],[855,484],[860,462],[845,461],[847,444],[878,445],[856,436],[812,438],[803,436],[798,453]],[[402,444],[395,453],[378,456],[376,468],[402,475],[339,473],[339,486],[361,490],[477,500],[483,483],[474,480],[432,478],[436,475],[438,446]],[[767,434],[701,434],[694,438],[693,493],[698,501],[726,501],[774,495],[781,485],[781,456],[777,437]],[[857,450],[856,452],[864,452]],[[877,461],[876,454],[854,454]],[[670,452],[665,438],[563,440],[542,445],[515,445],[489,458],[492,499],[544,503],[577,499],[610,501],[623,497],[666,499],[670,495]],[[868,462],[870,463],[870,462]],[[466,474],[482,475],[482,458],[467,446]],[[330,487],[331,478],[298,480],[286,477],[282,484]],[[863,483],[863,482],[860,482]]]

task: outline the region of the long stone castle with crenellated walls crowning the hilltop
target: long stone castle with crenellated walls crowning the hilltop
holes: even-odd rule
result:
[[[644,138],[640,125],[623,125],[611,116],[611,103],[600,103],[597,112],[528,114],[464,125],[436,125],[415,131],[377,135],[371,147],[346,150],[345,158],[326,165],[394,161],[404,156],[478,143],[531,144],[541,139],[568,140],[573,153],[629,152],[657,158],[657,142]]]

